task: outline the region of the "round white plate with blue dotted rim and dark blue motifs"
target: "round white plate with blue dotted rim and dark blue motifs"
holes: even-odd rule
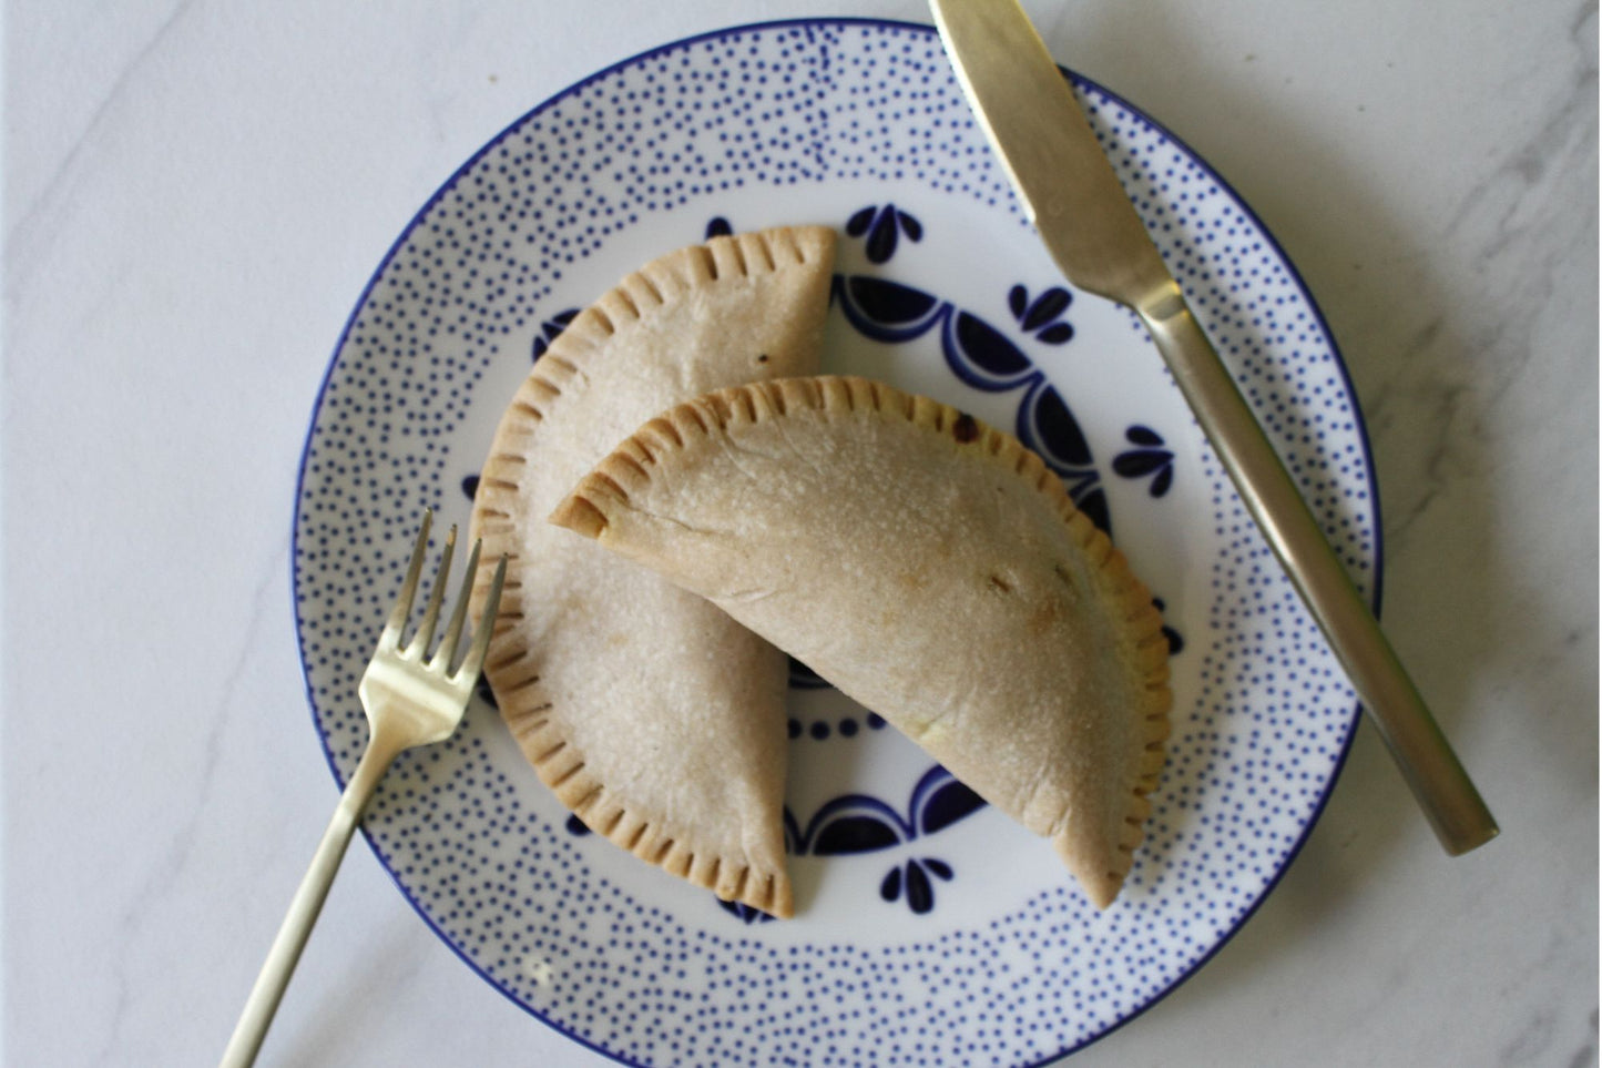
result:
[[[1075,79],[1120,176],[1352,572],[1378,515],[1341,359],[1193,152]],[[295,597],[335,776],[423,508],[465,521],[503,406],[572,314],[726,229],[841,234],[828,370],[1016,431],[1123,547],[1174,649],[1171,755],[1118,901],[796,665],[799,916],[721,904],[583,832],[477,701],[367,835],[490,985],[636,1065],[1035,1065],[1150,1005],[1246,919],[1322,808],[1357,704],[1126,311],[1067,287],[929,27],[747,26],[574,85],[468,160],[351,316],[301,468]]]

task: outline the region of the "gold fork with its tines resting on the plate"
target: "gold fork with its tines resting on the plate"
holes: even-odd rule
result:
[[[439,574],[423,609],[412,641],[402,648],[400,632],[412,614],[412,600],[417,595],[418,577],[423,572],[423,556],[428,548],[428,529],[433,513],[423,513],[423,529],[417,536],[412,548],[412,564],[407,568],[400,597],[396,598],[394,611],[389,613],[389,624],[378,638],[373,659],[367,664],[357,693],[362,707],[367,710],[368,739],[362,752],[356,773],[351,776],[340,805],[333,810],[333,819],[317,845],[311,869],[295,892],[288,916],[279,927],[277,938],[268,951],[266,964],[256,977],[256,985],[250,991],[245,1010],[234,1028],[234,1036],[223,1052],[223,1068],[252,1065],[261,1049],[261,1039],[272,1023],[284,988],[288,986],[290,973],[300,961],[306,938],[311,935],[317,912],[324,898],[328,896],[328,885],[344,858],[344,848],[351,843],[357,823],[367,802],[372,800],[378,781],[404,750],[417,746],[428,746],[444,741],[457,730],[461,714],[473,696],[473,686],[479,680],[484,667],[484,651],[490,643],[495,613],[500,609],[501,582],[506,577],[506,558],[501,556],[495,566],[495,577],[490,581],[489,593],[484,598],[484,611],[473,635],[473,646],[453,664],[457,645],[468,617],[468,595],[473,587],[473,576],[477,574],[479,545],[473,545],[468,556],[468,581],[457,597],[445,625],[445,635],[439,641],[439,649],[431,656],[428,646],[434,640],[434,627],[439,622],[439,608],[444,598],[445,581],[450,577],[450,555],[457,544],[457,528],[450,528],[445,537],[445,548],[439,561]],[[425,659],[426,657],[426,659]]]

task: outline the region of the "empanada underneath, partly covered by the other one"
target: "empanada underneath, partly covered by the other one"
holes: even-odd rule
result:
[[[473,510],[509,556],[485,675],[562,803],[666,871],[775,916],[783,850],[783,654],[700,597],[551,526],[551,508],[665,407],[817,370],[833,231],[714,237],[625,277],[533,364]]]

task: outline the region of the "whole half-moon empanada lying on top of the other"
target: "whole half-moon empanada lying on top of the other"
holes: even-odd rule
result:
[[[706,597],[1046,835],[1097,908],[1168,733],[1150,593],[1009,435],[862,378],[652,419],[551,516]]]

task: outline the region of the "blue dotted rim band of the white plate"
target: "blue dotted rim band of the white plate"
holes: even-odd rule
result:
[[[1362,425],[1323,324],[1272,239],[1133,107],[1085,82],[1160,247],[1354,574],[1376,585]],[[425,505],[479,462],[453,446],[489,361],[540,329],[564,268],[647,216],[742,186],[883,180],[1019,223],[926,27],[748,27],[631,59],[469,160],[386,257],[330,366],[303,459],[295,597],[336,775],[365,739],[356,683]],[[900,196],[900,194],[897,194]],[[918,216],[932,221],[929,207]],[[785,221],[775,218],[774,221]],[[537,308],[541,313],[537,313]],[[1137,330],[1131,318],[1131,330]],[[1238,925],[1317,815],[1349,741],[1344,678],[1203,452],[1219,552],[1195,707],[1125,898],[1069,885],[899,945],[782,945],[598,876],[527,803],[469,709],[402,757],[367,834],[425,919],[509,997],[638,1065],[1040,1063],[1150,1004]]]

